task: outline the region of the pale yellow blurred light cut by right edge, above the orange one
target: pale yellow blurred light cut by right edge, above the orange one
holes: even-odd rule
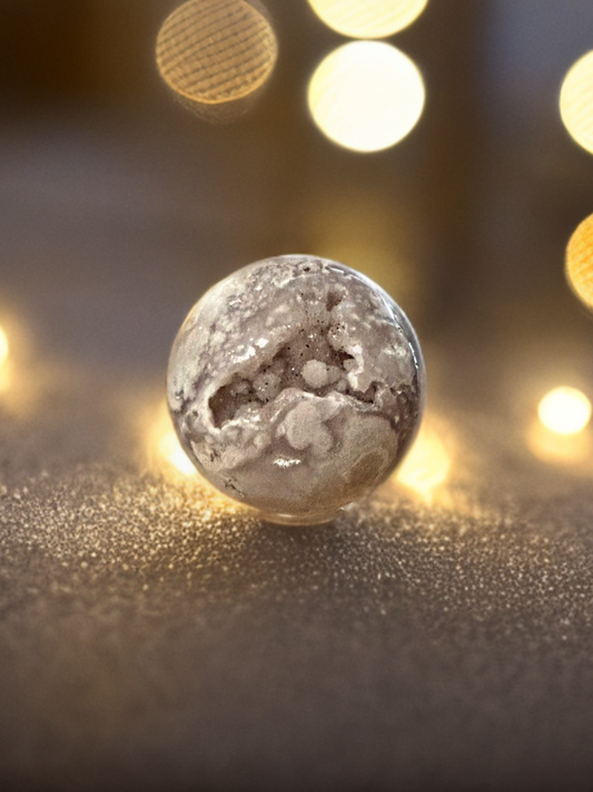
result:
[[[564,78],[560,115],[571,137],[593,154],[593,51],[577,60]]]

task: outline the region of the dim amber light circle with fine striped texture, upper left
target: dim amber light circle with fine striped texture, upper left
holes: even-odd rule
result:
[[[182,99],[224,105],[270,76],[278,55],[268,20],[244,0],[189,0],[162,23],[157,65]]]

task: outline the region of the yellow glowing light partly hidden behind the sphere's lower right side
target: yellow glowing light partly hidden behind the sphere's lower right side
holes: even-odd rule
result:
[[[442,433],[434,421],[426,418],[396,479],[425,500],[432,500],[435,490],[447,481],[451,466],[451,453]]]

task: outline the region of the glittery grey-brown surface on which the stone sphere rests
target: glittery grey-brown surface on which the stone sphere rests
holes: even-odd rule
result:
[[[2,789],[589,789],[590,485],[506,420],[447,405],[451,502],[284,528],[149,468],[158,384],[47,389],[0,418]]]

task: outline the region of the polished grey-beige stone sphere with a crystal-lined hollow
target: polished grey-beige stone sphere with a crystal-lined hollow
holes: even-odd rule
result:
[[[196,303],[175,340],[168,402],[198,470],[276,522],[315,524],[373,490],[408,449],[425,371],[379,286],[289,255]]]

